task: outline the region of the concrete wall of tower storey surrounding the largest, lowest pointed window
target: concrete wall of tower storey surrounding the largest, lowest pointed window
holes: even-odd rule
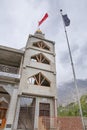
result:
[[[28,78],[41,72],[51,82],[50,87],[31,85],[28,82]],[[31,69],[26,67],[23,69],[23,74],[20,82],[20,92],[29,93],[31,95],[44,95],[44,96],[55,96],[56,95],[56,76],[53,73],[42,71],[39,69]]]

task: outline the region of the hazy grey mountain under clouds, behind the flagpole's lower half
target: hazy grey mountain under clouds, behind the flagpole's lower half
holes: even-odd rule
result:
[[[87,94],[87,79],[77,79],[79,96]],[[77,93],[73,81],[59,84],[58,89],[58,104],[66,105],[77,101]]]

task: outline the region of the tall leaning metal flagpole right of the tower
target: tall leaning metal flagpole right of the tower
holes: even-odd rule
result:
[[[81,120],[82,120],[83,130],[85,130],[85,125],[84,125],[84,120],[83,120],[83,113],[82,113],[82,107],[81,107],[81,103],[80,103],[80,96],[79,96],[77,80],[76,80],[76,74],[75,74],[75,69],[74,69],[71,49],[70,49],[70,45],[69,45],[68,35],[67,35],[67,31],[66,31],[66,26],[65,26],[64,19],[63,19],[63,15],[62,15],[62,10],[60,10],[60,13],[61,13],[62,20],[63,20],[64,30],[65,30],[65,35],[66,35],[66,40],[67,40],[67,45],[68,45],[68,50],[69,50],[69,56],[70,56],[70,61],[71,61],[71,66],[72,66],[74,85],[75,85],[76,93],[77,93],[77,99],[78,99],[78,105],[79,105],[79,110],[80,110],[80,116],[81,116]]]

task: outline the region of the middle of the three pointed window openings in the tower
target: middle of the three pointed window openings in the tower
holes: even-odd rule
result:
[[[40,62],[44,64],[50,64],[50,61],[42,53],[31,56],[31,61]]]

